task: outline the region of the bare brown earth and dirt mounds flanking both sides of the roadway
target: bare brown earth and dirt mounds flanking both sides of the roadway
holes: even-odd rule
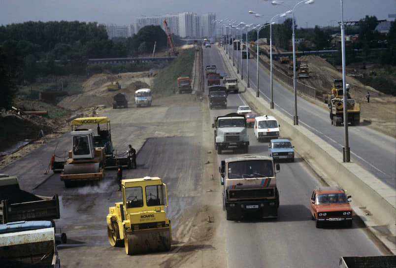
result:
[[[261,47],[268,49],[266,45],[261,45]],[[264,61],[269,61],[269,58],[264,55],[260,57]],[[318,56],[302,56],[298,60],[302,63],[307,63],[310,70],[310,77],[303,79],[302,82],[318,90],[330,92],[332,79],[342,78],[342,73],[336,67],[333,67]],[[289,65],[280,64],[279,61],[273,61],[274,68],[283,70],[285,73],[293,72]],[[121,84],[121,89],[117,91],[108,91],[106,88],[114,80],[113,75],[104,73],[95,74],[83,83],[82,88],[84,93],[66,97],[58,105],[70,110],[72,116],[93,116],[99,113],[101,109],[111,107],[112,97],[115,94],[124,93],[127,96],[129,106],[135,107],[133,105],[134,91],[139,88],[152,88],[154,77],[158,71],[119,73],[117,79]],[[351,84],[350,94],[352,98],[355,98],[361,103],[361,125],[396,138],[396,97],[383,94],[372,87],[365,86],[351,76],[347,76],[347,83]],[[370,92],[371,96],[369,103],[367,103],[365,98],[367,91]],[[315,102],[317,105],[323,107],[323,109],[328,109],[327,104],[322,100],[316,100],[303,95],[300,96]],[[155,100],[153,105],[159,102],[162,105],[166,105],[166,103],[170,105],[175,101],[174,98],[174,96],[161,98],[160,95],[155,93],[155,89],[153,89],[153,99]],[[36,129],[46,129],[46,133],[49,134],[40,136],[38,139],[30,142],[25,142],[27,145],[2,154],[0,168],[33,151],[46,140],[70,131],[70,127],[68,127],[66,122],[70,118],[52,120],[45,116],[21,116],[27,119],[25,121],[27,129],[35,126]],[[17,141],[14,140],[13,142],[16,143]],[[0,148],[0,151],[3,151],[3,148]]]

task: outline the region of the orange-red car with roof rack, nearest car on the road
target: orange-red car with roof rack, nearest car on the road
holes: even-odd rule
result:
[[[352,207],[345,191],[340,187],[318,187],[311,196],[309,209],[316,228],[324,222],[345,222],[352,226]]]

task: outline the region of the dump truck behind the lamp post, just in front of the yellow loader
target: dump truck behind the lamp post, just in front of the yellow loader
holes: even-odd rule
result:
[[[340,98],[329,99],[330,122],[334,126],[344,124],[344,100]],[[360,125],[360,103],[355,99],[347,99],[348,123],[351,126]]]

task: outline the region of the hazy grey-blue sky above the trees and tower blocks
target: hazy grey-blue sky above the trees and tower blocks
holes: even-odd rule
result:
[[[180,12],[215,12],[217,19],[264,23],[288,8],[273,6],[271,0],[0,0],[0,25],[26,21],[84,21],[135,24],[140,16],[175,15]],[[293,7],[297,0],[284,0]],[[264,18],[249,15],[254,10]],[[394,20],[396,0],[343,0],[344,21],[358,21],[365,15]],[[336,26],[341,21],[340,0],[315,0],[295,10],[297,27]]]

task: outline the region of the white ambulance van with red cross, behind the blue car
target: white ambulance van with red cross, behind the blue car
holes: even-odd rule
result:
[[[271,115],[257,116],[254,121],[254,135],[258,141],[279,138],[280,125]]]

